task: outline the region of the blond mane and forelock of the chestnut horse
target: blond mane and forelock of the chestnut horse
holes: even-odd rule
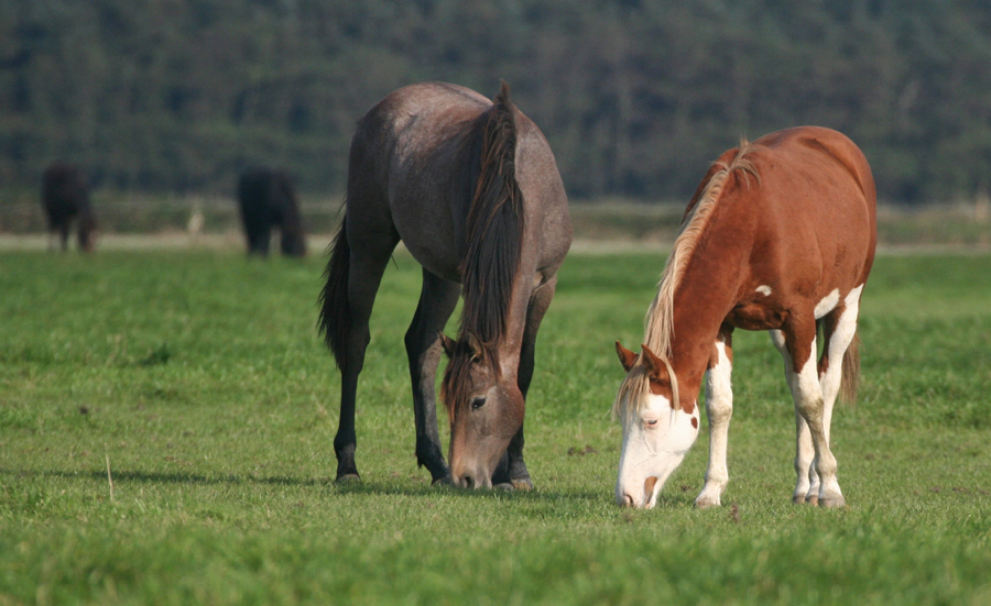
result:
[[[750,175],[760,185],[761,177],[756,172],[756,167],[748,155],[754,150],[761,148],[761,145],[754,145],[745,139],[740,140],[740,147],[736,155],[728,162],[719,162],[712,164],[714,168],[718,168],[709,180],[699,188],[696,198],[691,200],[688,211],[682,219],[682,225],[678,229],[678,236],[671,250],[671,255],[664,264],[664,271],[661,274],[661,284],[657,287],[657,295],[654,297],[651,307],[647,309],[644,318],[644,344],[651,349],[661,360],[667,363],[671,368],[669,361],[672,356],[671,340],[674,337],[674,295],[675,289],[682,283],[685,268],[691,260],[691,254],[698,244],[698,240],[709,222],[709,217],[716,208],[716,203],[726,187],[727,180],[737,170],[740,170],[750,184]],[[642,356],[641,352],[638,356]],[[678,386],[677,377],[671,372],[672,393],[677,399]],[[650,379],[643,364],[634,363],[633,367],[627,374],[627,378],[620,386],[612,404],[612,415],[621,419],[639,412],[646,406],[647,395],[650,394]],[[678,406],[677,401],[672,403],[672,408]]]

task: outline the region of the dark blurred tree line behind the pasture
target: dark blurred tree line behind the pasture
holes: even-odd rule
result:
[[[883,199],[991,174],[985,0],[7,0],[0,187],[56,158],[94,185],[231,192],[246,166],[344,189],[388,91],[500,78],[576,198],[684,199],[741,135],[849,134]]]

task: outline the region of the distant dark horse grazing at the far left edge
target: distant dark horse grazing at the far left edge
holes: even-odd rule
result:
[[[78,218],[79,250],[92,252],[96,242],[96,216],[89,206],[89,188],[83,170],[65,162],[53,163],[42,176],[42,208],[48,222],[48,249],[58,233],[62,251],[68,250],[69,225]]]

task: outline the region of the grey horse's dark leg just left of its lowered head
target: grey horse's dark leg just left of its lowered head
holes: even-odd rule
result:
[[[440,335],[458,304],[461,285],[423,271],[420,305],[406,331],[406,355],[413,383],[413,416],[416,422],[416,461],[425,466],[434,483],[449,483],[450,470],[437,434],[437,405],[434,384],[440,361]]]

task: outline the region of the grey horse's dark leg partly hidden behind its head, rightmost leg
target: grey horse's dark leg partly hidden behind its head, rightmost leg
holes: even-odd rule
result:
[[[533,291],[530,297],[530,306],[526,309],[526,328],[523,331],[523,346],[520,350],[520,371],[518,374],[520,392],[523,399],[526,399],[526,392],[530,390],[530,383],[533,381],[534,354],[536,351],[536,335],[541,329],[541,321],[544,313],[551,307],[551,300],[554,298],[554,289],[557,287],[557,276],[552,277]],[[526,471],[526,463],[523,461],[523,426],[520,431],[510,440],[509,447],[505,449],[504,461],[505,472],[509,477],[501,476],[503,470],[502,463],[496,470],[492,476],[492,484],[512,483],[514,488],[529,489],[533,488],[530,480],[530,472]]]

